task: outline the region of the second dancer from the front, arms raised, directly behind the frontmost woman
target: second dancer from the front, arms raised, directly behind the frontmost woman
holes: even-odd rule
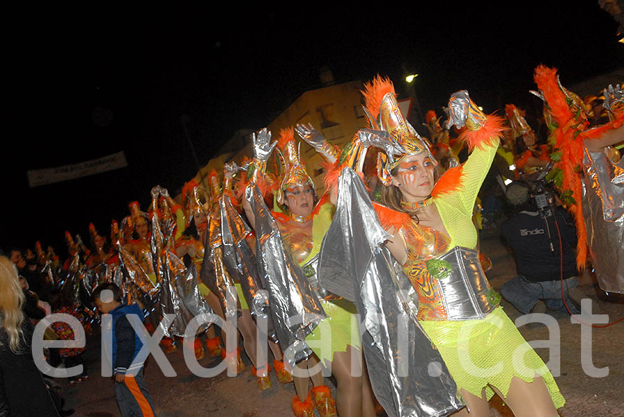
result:
[[[336,161],[338,150],[324,141],[322,136],[311,127],[300,126],[297,130],[315,150],[328,161]],[[299,157],[294,139],[293,128],[282,130],[277,141],[284,170],[281,173],[280,186],[277,189],[277,203],[283,204],[284,212],[271,214],[275,218],[284,247],[288,248],[295,263],[300,265],[309,285],[321,299],[322,310],[329,317],[318,323],[318,327],[305,337],[314,355],[309,355],[297,364],[299,369],[308,369],[313,382],[312,400],[322,416],[336,413],[329,388],[323,384],[322,375],[315,371],[320,361],[324,366],[331,366],[336,377],[336,407],[340,416],[374,416],[372,392],[367,378],[357,375],[352,357],[361,357],[358,330],[353,329],[352,341],[351,317],[356,313],[353,303],[324,292],[315,278],[315,265],[322,238],[331,223],[333,205],[329,196],[324,195],[315,202],[313,181],[307,174]],[[254,135],[254,181],[264,181],[264,167],[271,153],[270,133],[261,130]],[[316,204],[315,204],[316,203]],[[248,200],[243,202],[248,220],[257,233],[257,214],[254,213]],[[266,254],[265,254],[266,256]],[[330,319],[331,318],[331,319]],[[328,337],[331,333],[331,337]],[[324,335],[324,336],[323,336]],[[280,342],[283,343],[280,337]],[[282,344],[284,348],[284,344]],[[356,362],[356,361],[354,361]],[[308,394],[308,378],[295,378],[297,396],[293,398],[293,411],[297,416],[311,416],[312,401]]]

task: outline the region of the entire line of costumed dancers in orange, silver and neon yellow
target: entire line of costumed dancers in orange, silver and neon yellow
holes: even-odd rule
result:
[[[94,312],[85,308],[92,290],[119,285],[125,302],[145,312],[148,330],[164,332],[168,353],[199,314],[237,321],[259,389],[271,386],[271,369],[279,382],[293,382],[297,417],[315,409],[320,416],[375,416],[376,406],[388,416],[481,416],[489,415],[494,393],[518,415],[556,416],[565,400],[553,376],[485,276],[476,249],[477,195],[510,143],[521,142],[519,170],[555,162],[555,183],[576,217],[578,266],[589,253],[601,286],[623,292],[623,248],[609,242],[623,238],[624,168],[574,139],[600,139],[621,126],[624,113],[622,92],[611,87],[605,107],[612,120],[590,130],[555,70],[540,66],[535,80],[550,144],[535,144],[514,105],[506,119],[487,116],[467,91],[451,96],[444,128],[427,114],[431,137],[423,138],[401,114],[392,82],[378,76],[362,91],[367,128],[342,150],[312,125],[281,130],[277,140],[260,130],[252,159],[226,163],[223,180],[212,172],[209,189],[190,181],[177,204],[157,186],[148,212],[131,203],[130,215],[112,224],[110,249],[92,226],[92,250],[67,233],[71,258],[63,267],[40,246],[37,255],[49,285],[71,294],[92,322]],[[453,139],[451,127],[460,132]],[[326,161],[322,195],[295,136]],[[460,164],[462,148],[469,156]],[[163,322],[164,314],[175,318]],[[267,329],[259,334],[272,362],[266,349],[257,356],[257,326]],[[241,373],[238,337],[226,335],[236,334],[219,337],[214,326],[200,326],[196,358],[206,348]],[[335,398],[323,368],[336,378]]]

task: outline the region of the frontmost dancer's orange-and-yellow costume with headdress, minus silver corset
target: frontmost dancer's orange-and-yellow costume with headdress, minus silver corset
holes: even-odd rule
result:
[[[356,135],[351,149],[343,152],[340,162],[342,166],[359,170],[361,163],[358,160],[361,160],[363,148],[370,145],[381,147],[385,153],[380,153],[378,161],[379,179],[385,186],[394,186],[392,172],[396,172],[399,163],[410,155],[428,152],[428,149],[401,116],[389,80],[374,80],[372,87],[366,86],[364,95],[372,130],[363,130]],[[502,130],[501,121],[480,112],[466,91],[453,95],[449,108],[451,121],[466,125],[466,134],[460,137],[465,137],[474,151],[463,166],[447,170],[435,184],[432,195],[422,202],[407,203],[401,199],[401,211],[375,206],[379,220],[386,230],[392,229],[390,233],[400,235],[404,242],[407,259],[403,269],[419,296],[419,323],[440,351],[457,384],[458,393],[465,389],[480,397],[485,388],[489,399],[494,394],[488,387],[491,384],[507,396],[514,376],[532,382],[537,374],[544,378],[555,407],[562,407],[565,400],[550,371],[503,309],[493,308],[485,319],[453,319],[443,301],[447,297],[446,300],[452,303],[456,294],[453,289],[442,294],[442,287],[435,280],[444,277],[437,275],[435,268],[428,268],[426,261],[439,258],[453,247],[476,247],[477,232],[472,222],[474,204],[496,154],[498,133]],[[377,114],[379,120],[374,118]],[[463,121],[457,116],[461,114],[465,117]],[[390,152],[394,156],[392,159],[388,157]],[[429,157],[433,161],[433,157]],[[390,200],[388,204],[392,203]],[[408,214],[414,214],[428,204],[435,204],[449,236],[419,224]]]

